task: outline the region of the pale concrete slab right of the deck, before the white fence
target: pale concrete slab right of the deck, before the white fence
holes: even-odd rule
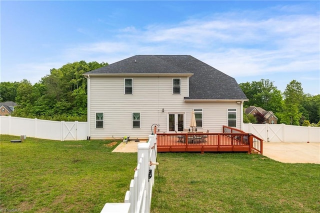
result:
[[[320,163],[320,142],[263,142],[263,155],[280,162]]]

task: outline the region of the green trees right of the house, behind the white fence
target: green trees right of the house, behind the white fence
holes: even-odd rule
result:
[[[278,118],[277,123],[320,126],[320,94],[303,93],[301,83],[296,80],[291,80],[283,92],[269,79],[240,83],[239,86],[249,99],[243,107],[254,105],[272,111]],[[243,121],[263,123],[261,116],[260,113],[245,115]]]

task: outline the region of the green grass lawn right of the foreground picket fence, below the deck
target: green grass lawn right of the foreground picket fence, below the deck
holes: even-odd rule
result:
[[[158,153],[152,212],[320,212],[320,164],[246,153]]]

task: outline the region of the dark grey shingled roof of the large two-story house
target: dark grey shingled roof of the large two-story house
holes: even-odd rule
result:
[[[233,77],[191,55],[135,55],[84,74],[116,73],[193,73],[185,99],[247,100]]]

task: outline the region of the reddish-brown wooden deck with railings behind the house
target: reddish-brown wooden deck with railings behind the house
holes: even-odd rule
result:
[[[224,126],[225,127],[225,126]],[[224,128],[223,133],[157,133],[158,152],[245,151],[262,153],[262,139],[243,131]],[[237,131],[236,133],[234,133]]]

